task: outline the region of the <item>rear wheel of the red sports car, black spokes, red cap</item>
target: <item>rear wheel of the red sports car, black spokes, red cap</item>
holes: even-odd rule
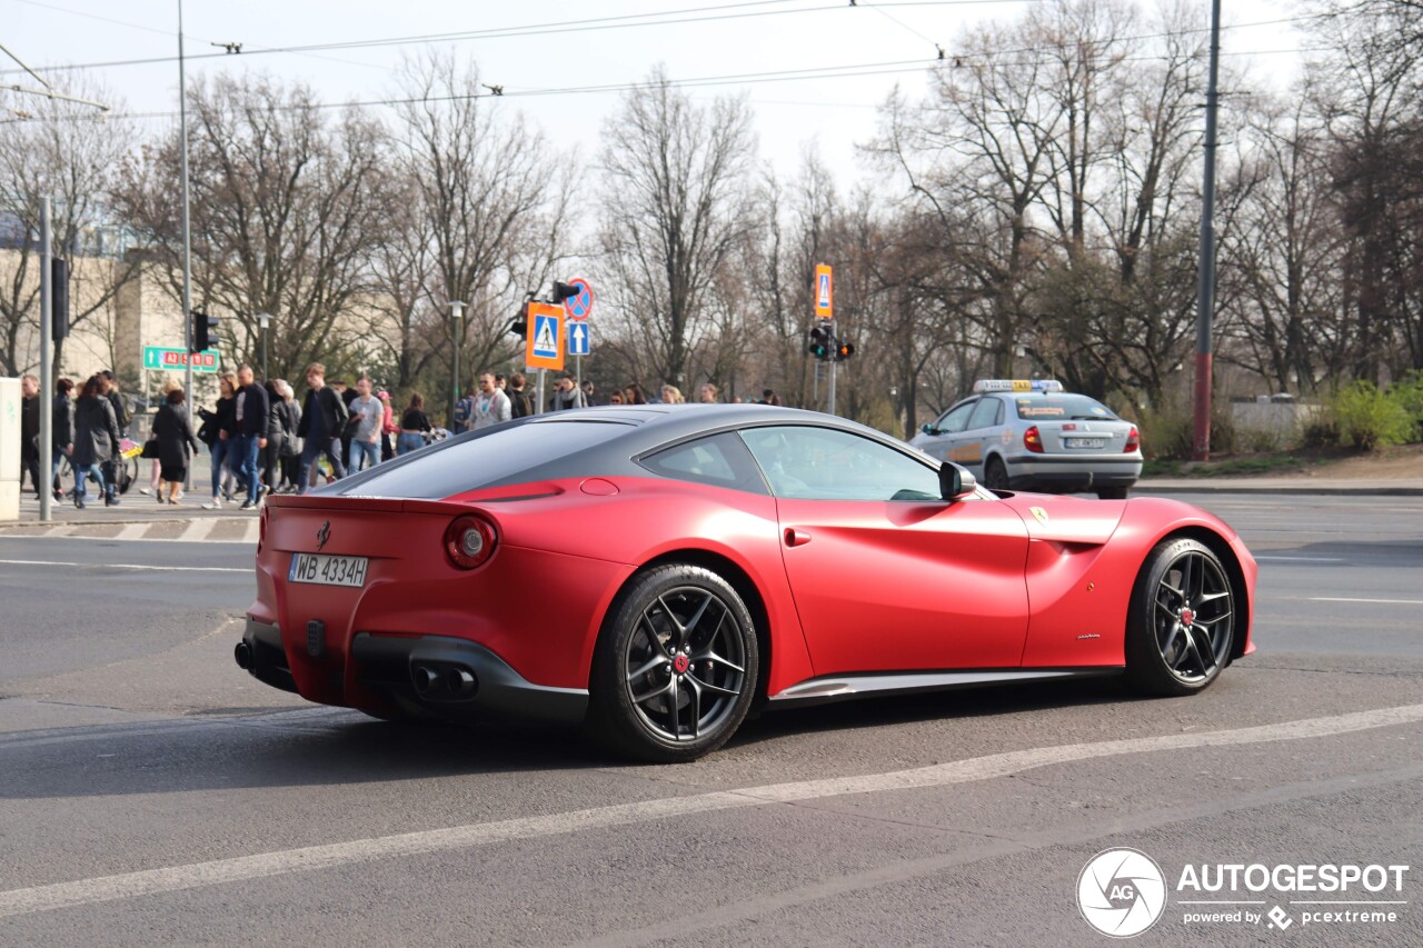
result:
[[[736,589],[702,567],[657,567],[632,581],[603,622],[592,736],[639,760],[696,760],[736,733],[758,670],[756,626]]]

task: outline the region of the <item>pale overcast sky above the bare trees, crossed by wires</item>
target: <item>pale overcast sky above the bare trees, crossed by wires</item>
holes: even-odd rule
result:
[[[657,64],[673,81],[729,77],[687,93],[697,101],[744,93],[760,155],[777,174],[793,177],[813,149],[848,184],[871,174],[855,145],[875,134],[875,108],[896,83],[918,97],[938,46],[952,56],[965,28],[1013,20],[1035,1],[184,0],[182,17],[189,81],[222,70],[265,71],[333,102],[388,97],[403,56],[431,44],[451,48],[477,60],[485,83],[504,87],[507,107],[589,164],[620,93],[573,90],[636,83]],[[1208,0],[1197,1],[1208,11]],[[179,0],[0,0],[0,44],[41,75],[65,64],[161,60],[91,70],[128,111],[162,114],[145,120],[158,131],[175,121],[178,10]],[[1306,43],[1284,23],[1291,16],[1291,0],[1222,0],[1225,61],[1249,63],[1262,84],[1286,87],[1299,68],[1295,50]],[[407,37],[424,38],[262,51]],[[240,43],[242,53],[213,46],[225,43]],[[766,75],[791,70],[803,73]],[[11,84],[36,81],[0,54],[0,85]]]

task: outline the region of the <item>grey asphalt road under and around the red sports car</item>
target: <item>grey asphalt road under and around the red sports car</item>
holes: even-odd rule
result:
[[[1261,564],[1205,695],[780,712],[675,767],[256,683],[248,545],[0,538],[0,944],[1104,945],[1076,892],[1114,847],[1165,877],[1141,944],[1423,944],[1423,498],[1187,500]],[[1178,888],[1217,864],[1412,868]]]

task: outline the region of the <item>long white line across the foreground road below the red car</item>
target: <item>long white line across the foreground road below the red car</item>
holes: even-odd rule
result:
[[[1020,773],[1035,767],[1140,754],[1158,750],[1180,750],[1188,747],[1231,747],[1275,740],[1302,740],[1309,737],[1331,737],[1373,727],[1392,727],[1423,720],[1423,705],[1402,705],[1369,712],[1355,712],[1333,717],[1313,717],[1261,725],[1234,730],[1204,732],[1200,734],[1163,734],[1158,737],[1134,737],[1128,740],[1104,740],[1089,744],[1063,744],[1057,747],[1035,747],[1013,750],[969,760],[955,760],[932,767],[896,770],[891,773],[865,774],[858,777],[831,777],[827,780],[803,780],[798,783],[767,784],[743,790],[702,793],[684,797],[665,797],[639,803],[620,803],[572,813],[519,817],[495,823],[471,823],[441,830],[401,833],[329,846],[307,846],[276,853],[258,853],[209,863],[191,863],[166,868],[102,875],[0,891],[0,918],[26,915],[30,912],[73,908],[120,898],[135,898],[158,892],[175,892],[203,885],[238,883],[249,878],[285,875],[310,870],[366,863],[400,855],[421,855],[472,846],[490,846],[512,840],[529,840],[566,833],[582,833],[615,826],[649,823],[693,813],[714,813],[744,807],[763,807],[774,803],[817,800],[852,793],[882,793],[887,790],[916,790],[942,787],[978,780],[992,780]]]

